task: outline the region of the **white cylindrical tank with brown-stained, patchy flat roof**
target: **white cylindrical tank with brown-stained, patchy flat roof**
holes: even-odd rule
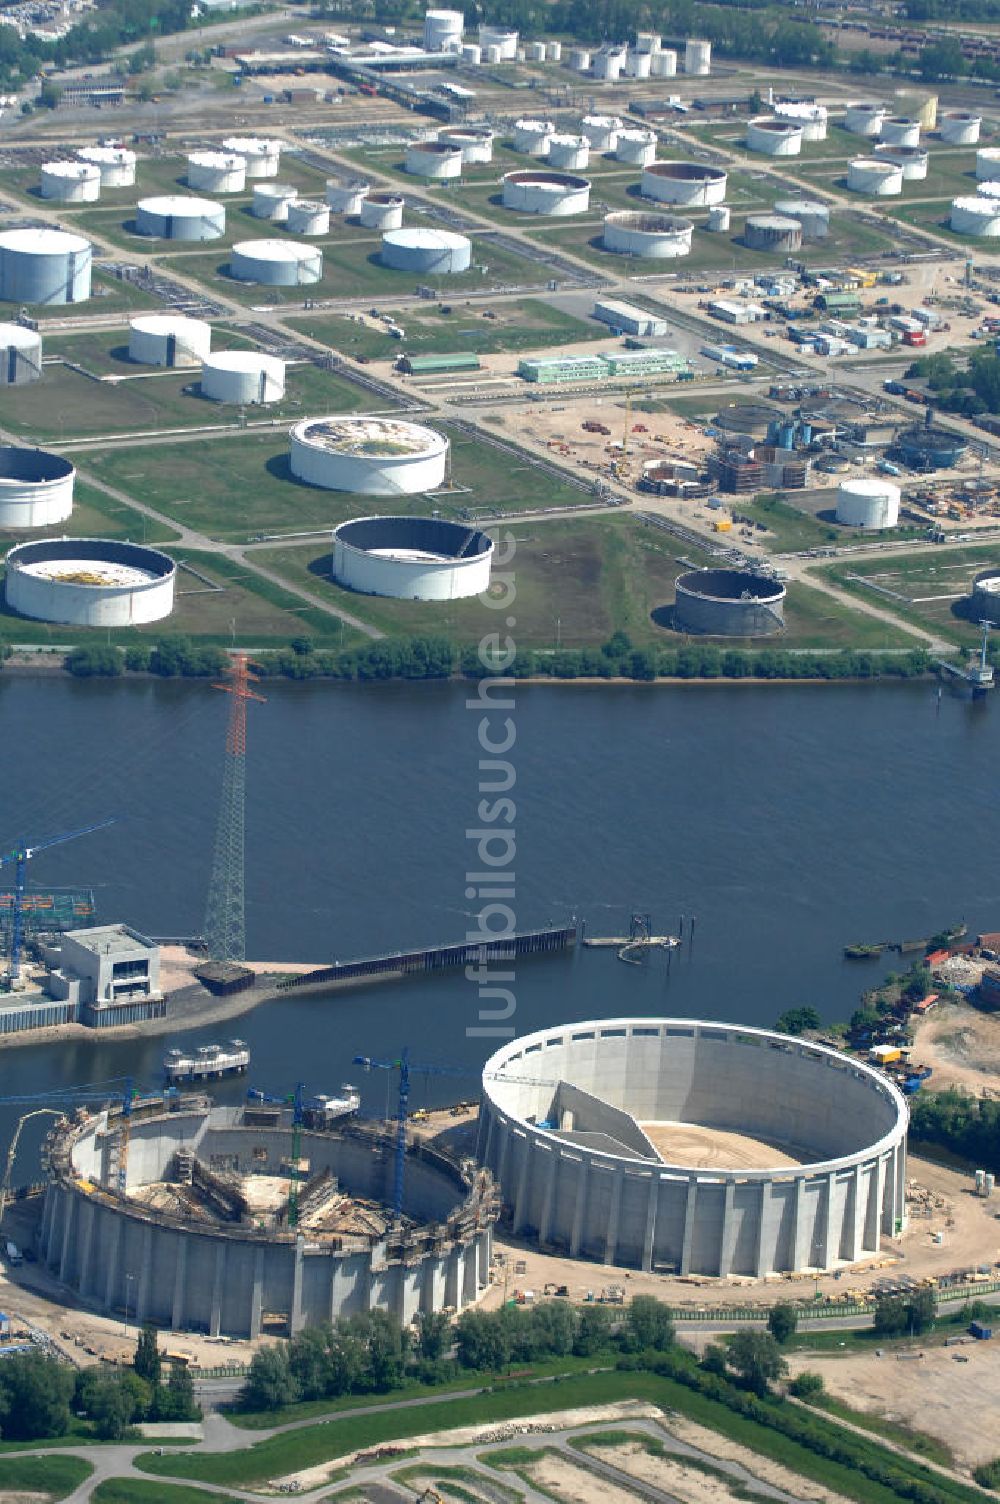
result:
[[[325,490],[412,496],[438,490],[448,439],[405,418],[304,418],[292,429],[292,474]]]

